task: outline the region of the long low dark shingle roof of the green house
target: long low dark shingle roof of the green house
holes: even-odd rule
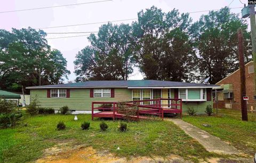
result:
[[[38,88],[95,88],[95,87],[124,87],[124,88],[212,88],[218,85],[205,85],[198,83],[183,83],[178,81],[162,81],[162,80],[101,80],[101,81],[84,81],[79,83],[67,83],[57,85],[44,85],[26,87],[28,89]]]

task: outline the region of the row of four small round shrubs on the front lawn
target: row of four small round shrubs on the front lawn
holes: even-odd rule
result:
[[[83,130],[84,129],[89,129],[90,124],[91,123],[85,121],[81,124],[81,128]],[[108,129],[108,125],[104,121],[102,121],[99,126],[100,126],[101,131],[106,131]],[[57,129],[62,130],[62,129],[65,129],[65,128],[66,128],[66,125],[63,123],[63,121],[59,121],[59,123],[57,124]],[[121,122],[120,125],[118,126],[118,129],[121,132],[126,132],[127,131],[127,124]]]

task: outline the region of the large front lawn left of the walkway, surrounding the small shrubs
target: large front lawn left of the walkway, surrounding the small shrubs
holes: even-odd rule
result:
[[[60,120],[67,127],[63,131],[56,129]],[[91,123],[89,130],[81,129],[84,121]],[[106,120],[109,127],[101,132],[100,122],[91,121],[91,115],[78,115],[78,121],[74,121],[74,115],[27,116],[15,128],[0,129],[0,161],[35,161],[43,156],[45,149],[63,141],[92,146],[127,158],[177,154],[196,162],[216,156],[168,121],[129,122],[127,132],[118,131],[119,122],[112,120]]]

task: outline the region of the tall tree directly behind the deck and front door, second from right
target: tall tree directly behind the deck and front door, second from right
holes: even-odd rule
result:
[[[190,23],[188,14],[175,9],[164,13],[153,6],[138,13],[133,29],[138,45],[137,65],[145,79],[194,80]]]

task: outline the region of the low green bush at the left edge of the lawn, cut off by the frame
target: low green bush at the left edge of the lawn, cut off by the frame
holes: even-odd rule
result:
[[[13,127],[22,117],[21,112],[3,113],[0,114],[0,128]]]

